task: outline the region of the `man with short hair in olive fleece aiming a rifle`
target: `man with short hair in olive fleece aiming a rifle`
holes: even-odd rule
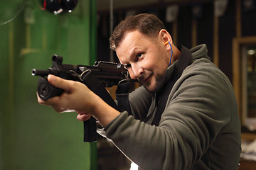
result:
[[[76,111],[78,120],[95,116],[105,135],[141,169],[238,168],[235,94],[228,78],[210,62],[206,45],[176,47],[159,18],[144,13],[122,21],[110,46],[131,78],[143,85],[129,94],[132,115],[111,108],[84,84],[52,75],[50,84],[65,92],[38,102],[58,112]],[[159,123],[154,124],[161,97],[184,57],[188,66],[167,93]]]

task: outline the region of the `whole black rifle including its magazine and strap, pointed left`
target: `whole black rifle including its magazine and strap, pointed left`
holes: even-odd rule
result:
[[[93,66],[62,64],[63,57],[58,55],[53,55],[52,62],[53,66],[46,70],[32,69],[31,71],[33,76],[39,76],[37,91],[43,101],[63,93],[62,89],[48,82],[48,74],[53,74],[63,79],[82,82],[107,104],[121,111],[105,87],[112,87],[118,85],[120,81],[128,80],[129,74],[123,64],[102,61],[95,62]],[[96,130],[95,118],[91,117],[84,121],[84,141],[95,142],[97,140]]]

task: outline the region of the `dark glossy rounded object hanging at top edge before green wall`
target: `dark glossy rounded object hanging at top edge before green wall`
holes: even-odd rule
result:
[[[78,0],[40,0],[43,10],[58,14],[72,12],[78,4]]]

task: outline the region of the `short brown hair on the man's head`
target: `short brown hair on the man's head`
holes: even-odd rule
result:
[[[124,21],[114,28],[110,37],[110,48],[116,50],[125,33],[133,30],[139,30],[140,33],[153,37],[157,35],[161,29],[165,29],[164,23],[154,14],[141,13],[135,16],[128,16]]]

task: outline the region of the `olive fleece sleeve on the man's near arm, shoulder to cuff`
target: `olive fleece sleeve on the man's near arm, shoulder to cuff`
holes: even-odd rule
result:
[[[192,67],[178,79],[159,126],[122,113],[109,137],[142,169],[188,169],[230,123],[230,86],[215,67]]]

